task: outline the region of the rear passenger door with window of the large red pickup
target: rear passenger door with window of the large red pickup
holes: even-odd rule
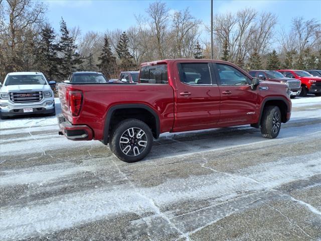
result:
[[[174,76],[174,131],[215,127],[220,118],[220,90],[211,62],[175,62]]]

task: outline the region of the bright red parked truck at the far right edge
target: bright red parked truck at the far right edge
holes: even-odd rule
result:
[[[307,93],[321,95],[321,78],[314,77],[304,70],[279,69],[277,70],[285,77],[301,80],[300,96],[306,96]]]

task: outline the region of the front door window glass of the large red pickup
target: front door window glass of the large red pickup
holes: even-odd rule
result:
[[[236,68],[226,64],[216,64],[220,76],[221,85],[247,85],[249,77]]]

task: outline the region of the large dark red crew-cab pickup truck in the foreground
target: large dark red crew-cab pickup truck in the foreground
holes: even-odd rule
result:
[[[166,132],[251,125],[275,138],[291,114],[287,85],[216,60],[143,63],[139,83],[61,83],[59,97],[60,135],[100,140],[125,162],[143,159]]]

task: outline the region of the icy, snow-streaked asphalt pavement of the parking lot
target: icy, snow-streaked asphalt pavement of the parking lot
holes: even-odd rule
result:
[[[56,123],[0,122],[2,241],[321,239],[321,97],[294,99],[277,139],[165,134],[134,164]]]

